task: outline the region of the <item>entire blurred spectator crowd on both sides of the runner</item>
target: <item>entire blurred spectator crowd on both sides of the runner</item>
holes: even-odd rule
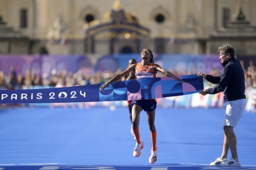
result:
[[[240,61],[242,67],[244,68],[244,61]],[[118,69],[116,72],[105,70],[96,71],[92,74],[84,74],[81,71],[76,73],[68,72],[67,70],[55,70],[53,69],[51,75],[46,73],[41,75],[36,75],[30,69],[27,69],[25,74],[16,73],[15,67],[11,66],[9,73],[4,73],[0,71],[0,90],[13,90],[13,89],[28,89],[31,86],[50,86],[50,87],[69,87],[75,85],[90,85],[90,84],[100,84],[105,83],[109,79],[113,78],[116,74],[121,73],[122,69]],[[186,73],[184,70],[182,72],[175,71],[172,68],[169,69],[175,76],[185,75],[185,74],[196,74],[197,72]],[[218,76],[220,75],[217,69],[212,69],[209,73],[210,75]],[[246,86],[246,99],[247,99],[247,111],[256,111],[256,67],[253,61],[250,61],[249,67],[244,68],[245,74],[245,86]],[[165,76],[162,73],[158,73],[157,77]],[[212,87],[211,83],[204,81],[204,87]]]

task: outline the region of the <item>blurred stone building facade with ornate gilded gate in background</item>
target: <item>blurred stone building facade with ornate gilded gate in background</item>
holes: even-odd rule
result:
[[[216,54],[230,43],[238,55],[256,55],[255,7],[255,0],[0,0],[0,53],[35,54],[40,47],[63,55],[138,53],[149,47]],[[3,39],[6,27],[22,47]]]

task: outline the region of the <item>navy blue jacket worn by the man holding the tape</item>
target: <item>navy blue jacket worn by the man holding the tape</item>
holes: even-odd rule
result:
[[[206,89],[208,94],[216,94],[224,91],[224,99],[228,101],[245,99],[244,70],[235,58],[229,58],[224,63],[223,73],[220,76],[207,75],[207,81],[218,84]]]

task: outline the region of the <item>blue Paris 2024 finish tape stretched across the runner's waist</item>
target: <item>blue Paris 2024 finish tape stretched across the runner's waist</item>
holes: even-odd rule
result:
[[[0,104],[9,103],[70,103],[92,101],[144,100],[192,94],[204,89],[203,78],[196,75],[178,76],[184,83],[170,77],[117,81],[73,87],[0,90]]]

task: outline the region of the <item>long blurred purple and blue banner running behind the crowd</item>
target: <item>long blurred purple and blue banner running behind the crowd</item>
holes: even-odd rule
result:
[[[9,73],[10,67],[15,66],[16,72],[25,74],[27,69],[36,75],[51,75],[52,70],[67,70],[67,72],[82,71],[91,74],[98,70],[116,72],[125,70],[129,59],[141,61],[140,54],[112,55],[0,55],[0,71]],[[165,70],[177,75],[209,73],[212,69],[222,72],[218,55],[183,55],[183,54],[154,54],[154,62]]]

